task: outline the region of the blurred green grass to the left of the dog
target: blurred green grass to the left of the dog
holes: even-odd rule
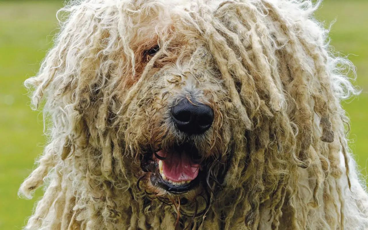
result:
[[[22,84],[35,75],[51,46],[48,35],[55,32],[55,15],[61,6],[61,1],[0,2],[1,230],[21,229],[35,202],[18,198],[17,191],[42,153],[46,138],[42,114],[29,108]]]

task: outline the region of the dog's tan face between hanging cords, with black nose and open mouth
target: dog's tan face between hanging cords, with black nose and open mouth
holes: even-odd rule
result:
[[[131,102],[125,131],[125,141],[139,146],[133,150],[139,186],[158,196],[198,195],[212,177],[224,177],[232,138],[228,119],[237,119],[226,113],[229,92],[208,46],[190,31],[171,25],[169,41],[146,43],[137,57],[143,69],[152,63],[144,76],[149,81]]]

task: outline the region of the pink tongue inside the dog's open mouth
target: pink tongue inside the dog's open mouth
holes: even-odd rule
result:
[[[193,163],[190,156],[182,153],[167,153],[159,151],[157,154],[166,159],[162,160],[162,170],[168,180],[174,182],[194,180],[198,176],[199,164]],[[157,159],[159,163],[160,159]]]

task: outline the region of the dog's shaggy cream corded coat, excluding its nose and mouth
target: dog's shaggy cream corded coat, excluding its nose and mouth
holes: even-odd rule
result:
[[[352,66],[329,52],[317,7],[64,7],[54,47],[25,82],[49,118],[49,144],[20,188],[31,198],[45,183],[25,229],[367,229],[368,197],[340,105],[356,93],[346,76]],[[170,106],[182,98],[212,107],[204,134],[172,124]],[[139,162],[147,149],[184,141],[198,148],[206,180],[172,195],[152,185]]]

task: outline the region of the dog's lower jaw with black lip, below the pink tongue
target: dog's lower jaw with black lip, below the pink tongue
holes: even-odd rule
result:
[[[152,185],[154,185],[155,187],[160,187],[170,192],[171,194],[179,195],[179,194],[184,194],[194,189],[195,187],[197,187],[200,181],[200,176],[201,176],[200,174],[201,173],[199,173],[198,176],[194,180],[192,180],[190,183],[182,184],[182,185],[170,184],[169,182],[163,180],[158,172],[152,172],[150,176],[150,180],[151,180]]]

